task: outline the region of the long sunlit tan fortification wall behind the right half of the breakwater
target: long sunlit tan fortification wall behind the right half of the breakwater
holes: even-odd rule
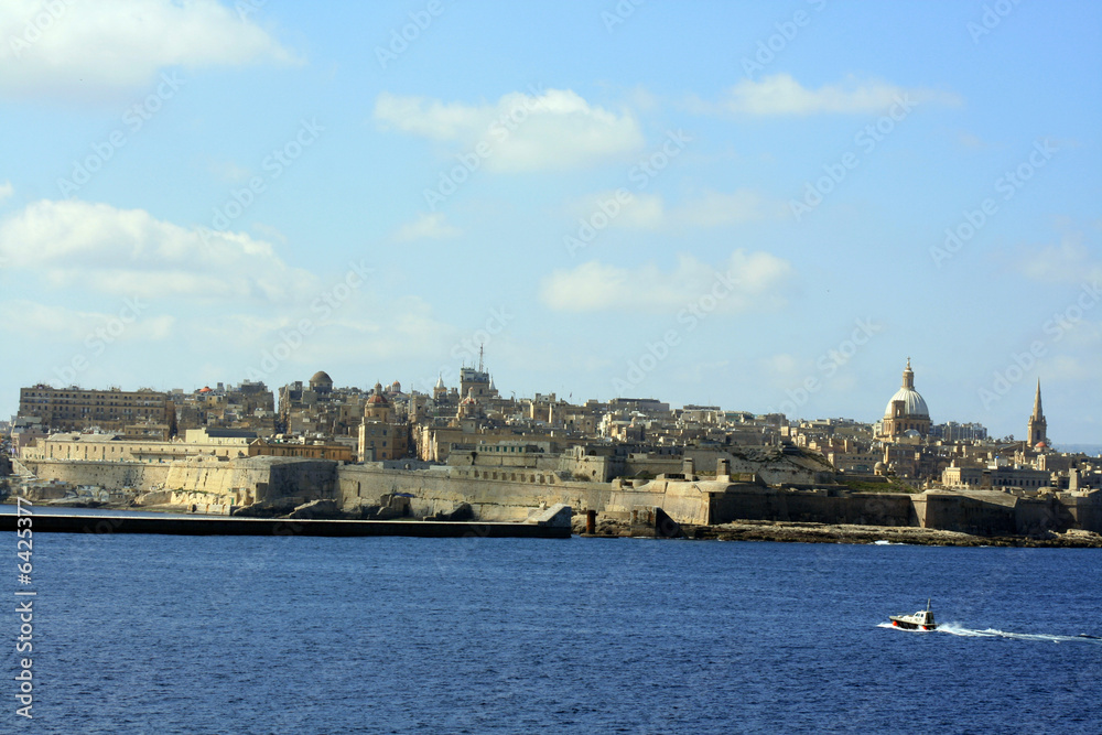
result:
[[[467,502],[478,520],[526,520],[533,509],[559,502],[575,511],[603,510],[611,495],[611,487],[604,483],[564,482],[554,473],[531,469],[433,467],[407,471],[367,463],[339,467],[337,478],[337,499],[344,510],[380,505],[383,495],[408,493],[413,496],[410,511],[414,516],[446,514]]]

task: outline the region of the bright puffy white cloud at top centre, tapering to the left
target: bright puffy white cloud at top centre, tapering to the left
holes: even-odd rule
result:
[[[630,112],[590,105],[570,89],[510,93],[482,105],[382,93],[375,119],[383,128],[456,144],[457,155],[497,172],[585,167],[644,144]]]

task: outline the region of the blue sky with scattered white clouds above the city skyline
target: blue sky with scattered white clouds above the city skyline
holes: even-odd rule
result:
[[[1102,444],[1102,6],[0,0],[20,387],[326,370]]]

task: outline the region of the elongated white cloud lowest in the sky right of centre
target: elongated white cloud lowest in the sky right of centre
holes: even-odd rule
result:
[[[541,299],[555,311],[678,312],[712,304],[706,311],[739,313],[784,303],[778,290],[791,266],[768,252],[735,250],[719,268],[690,255],[678,257],[671,271],[653,263],[619,268],[597,261],[557,270],[543,280]]]

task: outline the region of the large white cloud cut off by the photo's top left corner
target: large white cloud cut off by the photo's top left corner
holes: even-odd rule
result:
[[[166,66],[298,63],[215,0],[0,0],[0,94],[96,98],[148,86]]]

